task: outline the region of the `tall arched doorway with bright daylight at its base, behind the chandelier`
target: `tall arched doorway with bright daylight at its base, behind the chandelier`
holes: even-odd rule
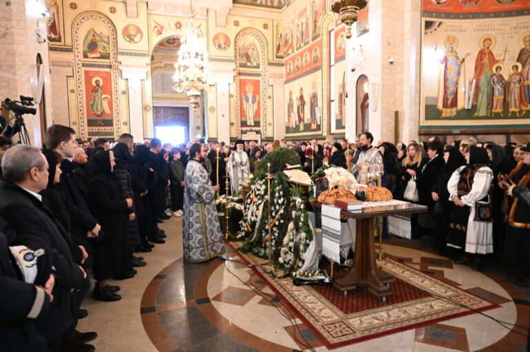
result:
[[[191,136],[197,134],[190,131],[190,104],[186,92],[173,90],[174,65],[179,48],[179,37],[168,37],[159,41],[151,56],[153,130],[155,137],[173,145],[187,143]]]

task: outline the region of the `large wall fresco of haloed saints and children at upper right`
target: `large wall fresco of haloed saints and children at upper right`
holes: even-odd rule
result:
[[[420,125],[528,125],[530,4],[449,3],[423,1]]]

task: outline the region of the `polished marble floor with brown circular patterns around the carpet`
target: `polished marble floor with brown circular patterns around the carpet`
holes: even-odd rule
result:
[[[88,318],[79,330],[97,331],[99,351],[327,351],[315,335],[284,307],[253,270],[237,262],[182,260],[181,220],[161,227],[168,242],[146,253],[121,286],[119,302],[87,298]],[[498,320],[528,325],[530,302],[510,282],[489,271],[479,273],[429,251],[391,241],[384,250],[396,260],[500,304],[486,311]],[[404,247],[409,246],[409,247]],[[229,256],[237,259],[235,253]],[[518,331],[526,331],[518,329]],[[526,351],[526,337],[479,314],[445,320],[333,351]]]

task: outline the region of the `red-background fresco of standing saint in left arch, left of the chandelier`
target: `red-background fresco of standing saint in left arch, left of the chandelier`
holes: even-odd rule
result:
[[[88,127],[112,127],[112,79],[110,71],[85,70],[84,96]]]

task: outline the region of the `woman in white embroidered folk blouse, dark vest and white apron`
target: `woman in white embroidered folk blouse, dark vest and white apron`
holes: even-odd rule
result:
[[[478,270],[481,267],[478,254],[493,253],[493,225],[492,222],[474,220],[475,203],[488,201],[493,172],[488,166],[485,149],[469,147],[464,158],[467,165],[456,169],[447,183],[449,200],[454,203],[447,246],[453,247],[454,257],[459,258],[455,260],[456,264],[469,262]]]

